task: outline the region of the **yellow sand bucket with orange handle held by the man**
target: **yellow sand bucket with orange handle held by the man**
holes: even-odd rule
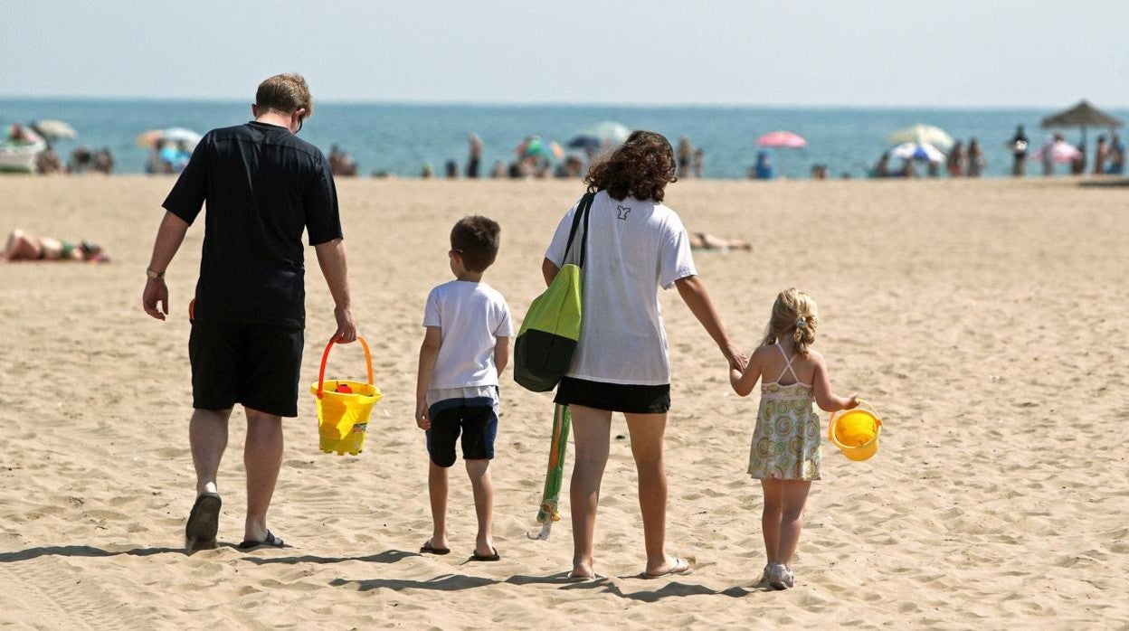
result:
[[[317,383],[309,386],[309,392],[317,400],[317,442],[326,454],[336,452],[343,456],[348,452],[356,456],[361,453],[368,417],[373,405],[383,396],[379,388],[373,385],[373,356],[368,352],[368,343],[360,335],[357,340],[365,349],[368,383],[325,378],[325,360],[330,358],[330,349],[334,344],[334,340],[330,340],[322,353]]]

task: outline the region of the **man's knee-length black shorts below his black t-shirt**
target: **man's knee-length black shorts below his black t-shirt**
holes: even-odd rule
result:
[[[193,322],[192,406],[227,410],[242,403],[268,414],[297,417],[303,333],[266,324]]]

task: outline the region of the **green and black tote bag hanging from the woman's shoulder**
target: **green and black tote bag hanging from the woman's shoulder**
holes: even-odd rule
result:
[[[564,257],[572,248],[577,227],[584,220],[580,258],[576,265],[564,264],[544,293],[533,299],[530,312],[514,343],[514,380],[533,392],[557,387],[572,365],[572,353],[580,339],[580,268],[587,254],[588,211],[595,193],[586,193],[577,204],[572,229],[564,246]]]

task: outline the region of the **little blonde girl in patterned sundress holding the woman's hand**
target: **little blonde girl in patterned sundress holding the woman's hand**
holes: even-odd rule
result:
[[[764,490],[761,528],[768,564],[761,581],[773,589],[795,584],[791,556],[799,542],[800,517],[812,480],[820,479],[820,417],[813,404],[828,412],[858,405],[857,396],[842,397],[831,391],[823,356],[811,348],[817,325],[811,296],[797,289],[781,291],[772,305],[764,341],[749,358],[744,373],[729,370],[729,384],[741,396],[764,379],[749,474]]]

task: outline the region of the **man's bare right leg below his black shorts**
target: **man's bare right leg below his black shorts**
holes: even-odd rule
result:
[[[282,418],[251,407],[247,413],[247,441],[243,464],[247,470],[247,519],[244,541],[266,538],[266,509],[271,506],[274,483],[282,466]]]

